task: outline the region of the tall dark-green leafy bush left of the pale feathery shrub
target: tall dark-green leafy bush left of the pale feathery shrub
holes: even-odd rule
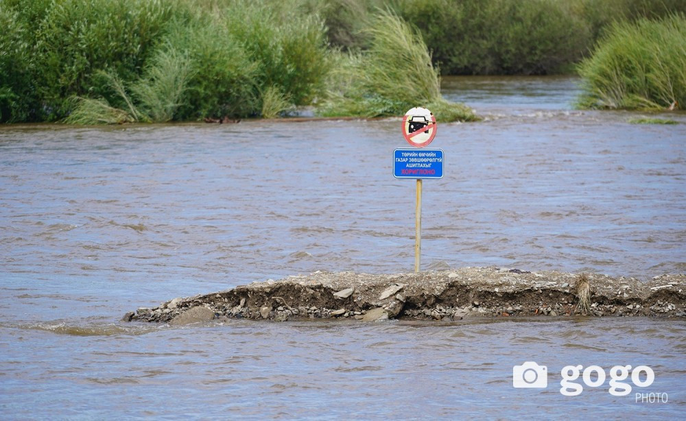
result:
[[[67,115],[73,95],[106,95],[95,73],[134,80],[171,16],[161,0],[54,1],[37,33],[36,75],[47,119]]]

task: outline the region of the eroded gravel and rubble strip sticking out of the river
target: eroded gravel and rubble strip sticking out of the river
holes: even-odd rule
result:
[[[649,282],[587,274],[593,316],[686,317],[686,275]],[[174,298],[125,321],[172,325],[246,317],[255,320],[342,318],[461,320],[466,317],[579,315],[578,274],[463,267],[419,274],[315,272],[200,296]],[[200,307],[200,308],[199,308]]]

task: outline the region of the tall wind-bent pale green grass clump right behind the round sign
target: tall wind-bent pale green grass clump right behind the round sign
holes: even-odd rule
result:
[[[421,35],[399,16],[380,12],[366,32],[368,49],[338,58],[322,115],[403,115],[412,107],[429,106],[441,121],[475,119],[469,108],[442,98],[438,70]]]

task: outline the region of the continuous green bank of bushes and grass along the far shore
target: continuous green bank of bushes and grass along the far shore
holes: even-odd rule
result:
[[[682,9],[676,0],[0,0],[0,122],[278,117],[297,106],[370,117],[417,105],[441,121],[471,120],[442,99],[439,72],[568,71],[612,22]]]

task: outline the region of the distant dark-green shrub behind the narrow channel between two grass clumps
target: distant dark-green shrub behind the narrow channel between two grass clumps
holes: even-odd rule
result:
[[[591,45],[573,2],[399,0],[444,74],[559,73]]]

